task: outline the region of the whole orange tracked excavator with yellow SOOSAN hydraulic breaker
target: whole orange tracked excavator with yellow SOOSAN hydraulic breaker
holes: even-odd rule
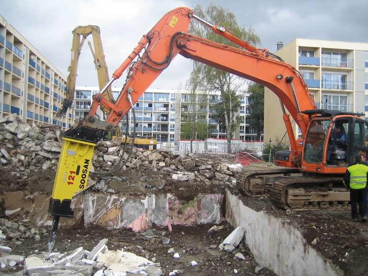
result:
[[[193,19],[239,48],[189,34],[189,23]],[[54,242],[58,217],[73,217],[71,198],[86,188],[96,143],[129,110],[135,117],[133,105],[177,54],[262,84],[280,99],[291,150],[276,153],[275,163],[282,167],[280,170],[241,173],[237,181],[240,189],[251,193],[257,189],[261,192],[270,190],[273,201],[287,208],[348,203],[349,194],[342,187],[341,179],[354,154],[366,151],[368,125],[362,114],[317,109],[305,81],[294,67],[269,51],[257,49],[237,38],[228,29],[212,25],[195,16],[190,9],[181,7],[165,14],[142,37],[112,79],[94,96],[86,118],[65,133],[49,205],[49,214],[54,216],[50,243]],[[103,92],[125,70],[126,82],[117,100],[111,102]],[[106,121],[96,116],[100,105],[109,110]],[[286,110],[297,123],[302,139],[295,139]],[[346,139],[339,145],[334,131],[337,124],[346,131]],[[118,169],[116,167],[115,171]]]

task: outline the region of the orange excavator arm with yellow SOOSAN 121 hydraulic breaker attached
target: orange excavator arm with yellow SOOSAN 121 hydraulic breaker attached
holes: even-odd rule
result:
[[[188,33],[192,19],[209,26],[220,36],[239,45],[241,49],[192,36]],[[188,8],[174,9],[165,14],[142,37],[137,47],[114,72],[110,81],[100,93],[94,95],[86,118],[65,132],[49,205],[49,214],[54,216],[49,251],[55,240],[59,216],[73,217],[71,199],[74,193],[87,187],[95,144],[102,139],[104,133],[112,130],[130,109],[133,109],[134,103],[170,65],[177,54],[269,87],[279,96],[282,105],[296,121],[302,134],[306,134],[309,118],[301,111],[316,109],[316,105],[302,76],[294,67],[282,62],[268,51],[256,49],[248,42],[242,41],[226,28],[211,25],[194,16]],[[105,91],[125,70],[127,80],[116,102],[113,102],[105,96]],[[96,116],[100,105],[109,113],[106,121],[101,121]],[[293,154],[300,155],[301,149],[295,141],[286,113],[284,121],[289,140],[292,142]]]

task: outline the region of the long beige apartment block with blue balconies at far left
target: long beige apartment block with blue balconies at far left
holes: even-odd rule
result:
[[[66,78],[0,16],[0,118],[17,114],[26,122],[68,129],[72,110],[54,119],[65,95]]]

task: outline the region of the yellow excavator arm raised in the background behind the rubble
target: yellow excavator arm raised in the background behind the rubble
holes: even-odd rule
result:
[[[98,79],[98,86],[102,89],[105,84],[109,80],[109,72],[108,67],[105,61],[105,54],[104,49],[102,47],[101,41],[101,32],[98,26],[88,25],[88,26],[78,26],[73,30],[73,42],[72,42],[72,58],[71,63],[68,67],[68,79],[66,80],[66,97],[63,100],[62,107],[58,110],[56,118],[59,118],[66,114],[68,108],[71,108],[73,105],[74,94],[75,94],[75,87],[77,81],[77,69],[78,69],[78,62],[79,56],[81,54],[81,50],[83,47],[84,42],[87,40],[89,35],[92,36],[93,39],[93,48],[91,42],[88,41],[88,46],[91,50],[93,56],[93,62],[97,71],[97,79]],[[107,100],[114,102],[114,97],[112,94],[111,87],[105,89],[103,93],[104,98]],[[101,107],[105,114],[109,113],[109,110]]]

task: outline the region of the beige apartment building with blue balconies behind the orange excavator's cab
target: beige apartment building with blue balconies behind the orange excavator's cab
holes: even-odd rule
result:
[[[275,53],[306,81],[318,109],[365,113],[368,117],[368,44],[294,39]],[[296,91],[298,93],[298,91]],[[264,141],[288,143],[279,98],[264,91]],[[292,119],[292,118],[291,118]],[[293,122],[294,133],[300,135]]]

